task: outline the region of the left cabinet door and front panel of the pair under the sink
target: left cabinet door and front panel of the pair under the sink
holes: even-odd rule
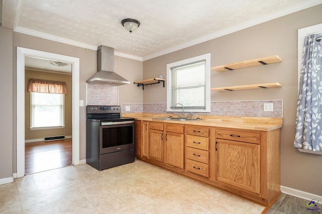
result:
[[[148,136],[148,159],[163,162],[164,153],[164,124],[150,122]]]

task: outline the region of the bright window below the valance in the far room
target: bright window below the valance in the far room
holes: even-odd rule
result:
[[[64,94],[30,94],[30,129],[64,127]]]

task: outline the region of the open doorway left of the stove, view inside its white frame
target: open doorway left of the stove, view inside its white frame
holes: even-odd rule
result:
[[[25,90],[26,175],[72,163],[71,78],[69,63],[25,57],[25,85],[34,85]],[[41,90],[45,84],[64,90]]]

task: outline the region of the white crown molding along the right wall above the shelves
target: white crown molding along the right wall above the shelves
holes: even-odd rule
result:
[[[277,19],[277,18],[286,16],[286,15],[289,15],[289,14],[292,14],[292,13],[295,13],[295,12],[298,12],[298,11],[301,11],[301,10],[304,10],[304,9],[307,9],[307,8],[310,8],[310,7],[319,5],[319,4],[321,4],[320,0],[311,0],[311,1],[304,2],[304,3],[300,3],[300,4],[298,4],[298,5],[294,6],[294,7],[288,8],[287,10],[283,10],[283,11],[277,12],[275,14],[267,15],[267,16],[264,16],[264,17],[249,21],[249,22],[245,22],[243,24],[236,25],[236,26],[233,26],[231,28],[227,28],[227,29],[222,30],[222,31],[218,31],[218,32],[213,33],[213,34],[209,34],[208,36],[198,38],[196,40],[193,40],[193,41],[190,41],[190,42],[175,46],[173,48],[169,48],[169,49],[166,49],[166,50],[163,50],[163,51],[159,51],[159,52],[147,55],[147,56],[143,57],[143,61],[149,60],[149,59],[152,59],[152,58],[155,58],[155,57],[158,57],[158,56],[162,56],[162,55],[165,55],[165,54],[169,54],[169,53],[172,53],[172,52],[184,49],[184,48],[188,48],[190,46],[197,45],[197,44],[200,44],[202,42],[206,42],[206,41],[209,41],[209,40],[212,40],[212,39],[216,39],[218,37],[225,36],[227,34],[231,34],[231,33],[234,33],[234,32],[237,32],[237,31],[240,31],[240,30],[243,30],[243,29],[246,29],[246,28],[249,28],[249,27],[252,27],[252,26],[255,26],[255,25],[270,21],[270,20],[273,20],[273,19]]]

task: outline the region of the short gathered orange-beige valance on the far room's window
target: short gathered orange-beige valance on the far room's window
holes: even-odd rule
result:
[[[43,79],[29,79],[27,91],[40,93],[67,93],[65,82]]]

